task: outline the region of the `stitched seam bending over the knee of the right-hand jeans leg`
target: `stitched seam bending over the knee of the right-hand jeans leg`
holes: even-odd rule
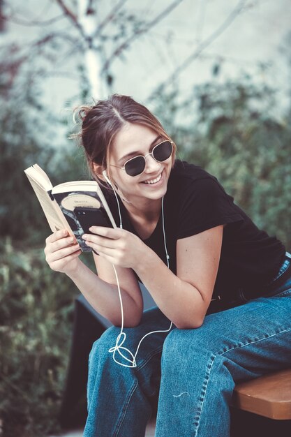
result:
[[[270,339],[273,336],[280,335],[280,334],[283,334],[285,332],[290,332],[290,331],[291,331],[291,327],[290,328],[283,328],[279,332],[274,332],[274,334],[271,334],[271,335],[266,335],[265,334],[264,337],[262,337],[261,339],[255,339],[253,341],[248,341],[248,343],[237,344],[236,346],[232,346],[231,348],[227,348],[227,350],[223,350],[222,352],[218,351],[216,354],[211,355],[211,357],[210,357],[210,359],[209,359],[209,361],[207,363],[207,372],[205,374],[205,377],[204,377],[204,380],[203,380],[203,383],[202,383],[202,390],[200,392],[200,399],[199,399],[200,403],[199,403],[199,406],[198,406],[198,411],[197,411],[197,414],[194,417],[194,426],[196,427],[195,430],[194,430],[194,432],[195,432],[194,436],[197,436],[197,431],[199,429],[200,417],[201,417],[202,409],[203,409],[203,406],[204,406],[204,401],[205,401],[205,397],[206,397],[207,387],[208,387],[208,383],[209,383],[209,379],[210,379],[210,373],[211,373],[211,369],[212,369],[212,366],[214,365],[214,362],[215,362],[216,358],[218,356],[225,355],[225,353],[230,352],[230,350],[234,350],[234,349],[238,349],[238,348],[244,348],[246,346],[249,346],[250,344],[258,343],[259,341]]]

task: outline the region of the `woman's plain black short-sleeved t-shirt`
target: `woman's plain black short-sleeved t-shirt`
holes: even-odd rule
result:
[[[117,201],[113,193],[105,191],[114,220],[119,224]],[[120,203],[123,227],[138,235],[130,222],[126,208]],[[214,296],[230,298],[239,289],[255,297],[263,294],[264,284],[276,276],[285,247],[260,230],[244,211],[234,203],[216,177],[197,165],[175,161],[167,193],[164,197],[165,237],[170,255],[170,269],[176,273],[177,240],[204,230],[225,225],[221,260],[214,287]],[[154,232],[144,240],[165,262],[162,216]],[[195,260],[193,260],[195,262]]]

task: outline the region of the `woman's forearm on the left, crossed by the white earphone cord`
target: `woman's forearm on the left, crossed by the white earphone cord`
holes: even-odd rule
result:
[[[116,285],[100,279],[81,261],[77,269],[66,274],[98,313],[110,320],[113,325],[121,326],[121,304]],[[122,289],[121,299],[124,308],[124,326],[138,325],[142,316],[142,307],[137,304],[138,299],[135,301]]]

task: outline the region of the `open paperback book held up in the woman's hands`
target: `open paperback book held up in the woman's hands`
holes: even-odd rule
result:
[[[116,228],[114,218],[96,181],[73,181],[52,186],[38,164],[24,170],[36,193],[52,232],[68,230],[75,235],[80,249],[91,252],[82,235],[92,225]]]

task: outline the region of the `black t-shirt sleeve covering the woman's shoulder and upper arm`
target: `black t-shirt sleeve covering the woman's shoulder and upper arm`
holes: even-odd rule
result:
[[[233,198],[211,177],[192,181],[181,197],[177,239],[244,220]]]

